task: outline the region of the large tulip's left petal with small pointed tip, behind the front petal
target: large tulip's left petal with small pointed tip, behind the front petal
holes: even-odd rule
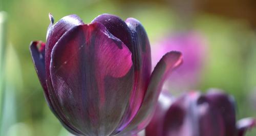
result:
[[[77,15],[68,15],[68,16],[62,17],[59,21],[56,22],[55,25],[53,25],[54,19],[51,14],[49,14],[49,18],[51,22],[47,30],[47,42],[46,42],[46,52],[45,52],[46,84],[48,89],[45,90],[45,92],[46,94],[48,94],[46,98],[49,97],[48,103],[51,104],[50,107],[54,108],[55,110],[54,114],[56,115],[56,113],[59,113],[61,109],[58,106],[58,103],[56,102],[56,100],[54,99],[55,96],[53,96],[53,94],[50,93],[54,91],[52,81],[51,81],[51,75],[50,75],[50,61],[51,61],[52,49],[55,46],[55,43],[60,39],[60,37],[62,37],[63,34],[65,34],[67,31],[69,31],[73,27],[83,24],[83,22]],[[64,117],[64,115],[57,114],[56,116],[62,122],[62,124],[67,124],[68,127],[71,127],[67,119]],[[76,128],[71,128],[71,129],[77,133],[81,133]]]

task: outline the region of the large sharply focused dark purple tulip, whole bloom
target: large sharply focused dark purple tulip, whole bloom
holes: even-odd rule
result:
[[[138,20],[102,14],[87,25],[68,15],[53,24],[49,17],[46,43],[33,41],[30,51],[61,124],[75,135],[140,131],[181,53],[168,52],[152,72],[150,43]]]

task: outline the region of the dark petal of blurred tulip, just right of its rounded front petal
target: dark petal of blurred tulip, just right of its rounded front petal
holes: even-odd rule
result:
[[[236,110],[234,107],[234,98],[221,93],[218,89],[211,89],[206,94],[207,99],[210,101],[212,106],[220,111],[222,120],[224,121],[225,136],[236,135]]]

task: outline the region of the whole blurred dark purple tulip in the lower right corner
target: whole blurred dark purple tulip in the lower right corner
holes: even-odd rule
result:
[[[146,136],[243,136],[256,126],[246,118],[236,124],[233,97],[212,89],[207,94],[189,92],[173,99],[161,94]]]

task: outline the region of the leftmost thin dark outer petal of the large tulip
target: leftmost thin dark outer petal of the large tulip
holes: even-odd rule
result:
[[[45,71],[45,43],[42,41],[32,41],[30,44],[30,53],[35,66],[35,70],[39,81],[44,88],[44,94],[48,106],[50,107],[53,114],[60,120],[61,124],[68,129],[71,133],[79,135],[78,132],[72,130],[69,126],[66,125],[56,114],[55,109],[52,107],[52,103],[49,100],[48,89],[46,85],[46,71]]]

